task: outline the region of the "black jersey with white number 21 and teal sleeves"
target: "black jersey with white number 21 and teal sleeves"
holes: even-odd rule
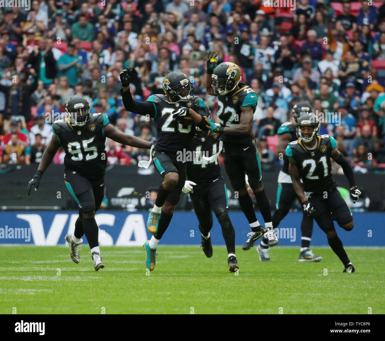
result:
[[[316,148],[309,150],[301,141],[290,142],[286,156],[297,163],[305,192],[323,192],[336,188],[338,184],[331,176],[330,154],[337,147],[330,135],[317,136]]]

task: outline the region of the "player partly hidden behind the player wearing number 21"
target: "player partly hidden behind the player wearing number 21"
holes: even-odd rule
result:
[[[296,123],[298,118],[303,114],[310,113],[310,103],[308,102],[298,102],[293,107],[293,121],[294,122],[285,122],[278,129],[278,134],[280,139],[276,147],[275,155],[278,159],[282,160],[283,157],[283,166],[280,174],[278,175],[278,191],[277,191],[277,203],[276,211],[273,214],[273,226],[274,228],[278,227],[279,223],[286,214],[288,214],[291,205],[295,198],[297,197],[295,190],[293,188],[293,183],[289,175],[289,160],[285,154],[286,147],[288,143],[297,140],[296,136]],[[303,212],[303,218],[301,223],[301,249],[299,262],[319,262],[322,257],[316,256],[309,249],[311,241],[311,233],[313,231],[313,218]],[[267,245],[263,240],[258,245],[258,254],[259,259],[262,261],[269,261],[269,245]]]

